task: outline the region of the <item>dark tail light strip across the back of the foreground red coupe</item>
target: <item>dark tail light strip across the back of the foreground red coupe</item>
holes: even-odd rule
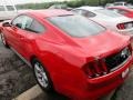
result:
[[[129,58],[132,54],[132,46],[129,44],[122,51],[126,52],[126,56]],[[127,59],[127,58],[122,58],[120,56],[120,53],[122,53],[122,51],[117,52],[113,57],[109,56],[104,59],[91,61],[91,62],[86,63],[85,66],[83,66],[82,69],[90,79],[105,76],[106,73],[111,72],[112,69],[114,69],[115,67],[117,67],[119,64],[121,64],[122,62],[124,62]],[[108,61],[108,59],[109,59],[109,61]],[[124,59],[124,60],[122,60],[122,59]],[[116,61],[114,61],[114,60],[116,60]],[[112,61],[116,66],[113,64],[113,67],[112,67]]]

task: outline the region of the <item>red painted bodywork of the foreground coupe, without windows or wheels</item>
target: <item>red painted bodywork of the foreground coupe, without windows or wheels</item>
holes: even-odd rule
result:
[[[45,19],[71,12],[44,10],[24,14],[42,23],[47,28],[45,33],[38,34],[17,27],[2,27],[1,31],[10,47],[29,62],[35,57],[44,64],[58,92],[76,100],[95,100],[117,88],[126,78],[127,73],[124,78],[122,73],[132,63],[132,50],[124,64],[100,77],[89,78],[84,68],[88,69],[90,62],[98,60],[102,60],[100,64],[106,68],[103,59],[131,47],[130,37],[105,30],[96,36],[72,38]]]

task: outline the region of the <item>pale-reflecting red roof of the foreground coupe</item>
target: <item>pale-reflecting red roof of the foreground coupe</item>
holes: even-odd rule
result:
[[[27,11],[27,13],[41,18],[73,14],[71,11],[61,10],[61,9],[31,10],[31,11]]]

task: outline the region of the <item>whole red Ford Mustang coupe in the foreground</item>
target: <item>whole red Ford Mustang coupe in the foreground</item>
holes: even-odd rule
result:
[[[43,90],[93,100],[119,87],[129,74],[129,36],[106,30],[65,10],[19,14],[0,28],[1,39],[33,68]]]

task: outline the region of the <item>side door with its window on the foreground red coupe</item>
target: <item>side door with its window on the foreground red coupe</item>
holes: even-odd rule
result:
[[[27,27],[30,27],[33,19],[21,14],[17,17],[12,22],[11,27],[7,28],[6,33],[11,48],[19,54],[24,54],[24,47],[29,41],[27,39]],[[24,48],[23,48],[24,47]]]

